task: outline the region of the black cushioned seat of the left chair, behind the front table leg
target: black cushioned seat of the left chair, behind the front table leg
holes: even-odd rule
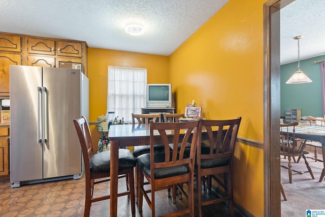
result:
[[[128,169],[136,166],[136,159],[128,149],[118,149],[118,169]],[[90,171],[92,173],[110,172],[111,151],[103,151],[94,154],[90,161]]]

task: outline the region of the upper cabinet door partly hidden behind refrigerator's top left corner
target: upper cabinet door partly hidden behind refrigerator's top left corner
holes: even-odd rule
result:
[[[21,65],[21,55],[0,53],[0,92],[9,92],[10,65]]]

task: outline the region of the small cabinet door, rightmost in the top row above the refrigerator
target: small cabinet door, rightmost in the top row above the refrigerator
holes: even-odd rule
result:
[[[56,42],[57,55],[58,56],[82,56],[82,45],[81,43],[72,42]]]

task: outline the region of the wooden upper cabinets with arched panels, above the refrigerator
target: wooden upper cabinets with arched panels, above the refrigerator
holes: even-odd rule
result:
[[[88,76],[87,49],[84,41],[0,32],[0,99],[10,97],[10,65],[81,69]]]

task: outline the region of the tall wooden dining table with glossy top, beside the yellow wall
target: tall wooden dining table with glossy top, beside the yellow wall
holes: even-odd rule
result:
[[[213,134],[217,133],[217,130],[212,130]],[[206,132],[205,128],[202,129],[203,140],[207,138],[207,134],[204,132]],[[155,143],[162,143],[158,136],[159,133],[156,132],[156,134]],[[173,131],[171,130],[167,134],[171,135],[170,142],[172,142]],[[150,126],[145,124],[112,125],[109,129],[108,139],[111,141],[110,216],[117,216],[118,148],[150,144]],[[182,138],[180,137],[180,139]]]

